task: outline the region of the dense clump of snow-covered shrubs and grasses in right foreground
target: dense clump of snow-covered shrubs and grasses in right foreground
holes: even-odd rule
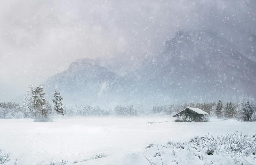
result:
[[[191,156],[196,156],[200,160],[210,160],[209,164],[213,164],[214,162],[211,160],[214,160],[218,155],[219,157],[225,157],[226,159],[227,156],[230,156],[233,159],[231,160],[234,161],[234,164],[236,164],[235,162],[240,161],[237,159],[238,157],[242,157],[242,161],[240,161],[241,164],[241,162],[247,162],[244,157],[252,157],[256,154],[256,134],[227,134],[217,136],[216,138],[209,135],[200,138],[197,136],[185,143],[168,142],[167,145],[171,148],[176,157],[183,158],[183,156],[177,155],[176,152],[183,154],[185,151],[189,151]],[[184,152],[179,152],[182,149],[184,149]]]

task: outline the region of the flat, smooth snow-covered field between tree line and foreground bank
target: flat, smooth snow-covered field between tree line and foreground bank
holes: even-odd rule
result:
[[[187,141],[205,134],[256,133],[256,122],[211,119],[205,123],[176,123],[170,116],[157,117],[83,117],[33,122],[32,119],[0,119],[0,148],[19,165],[52,161],[83,161],[104,153],[107,157],[78,164],[147,163],[143,155],[149,143]],[[148,123],[152,122],[152,123]],[[125,157],[123,160],[122,158]],[[136,160],[137,157],[140,157]],[[143,157],[143,159],[141,158]],[[143,160],[143,162],[141,162]],[[131,162],[127,163],[130,164]]]

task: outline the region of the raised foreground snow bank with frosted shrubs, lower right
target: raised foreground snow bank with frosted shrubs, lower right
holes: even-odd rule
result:
[[[253,165],[256,164],[256,134],[195,137],[186,143],[168,142],[144,151],[116,154],[77,165]]]

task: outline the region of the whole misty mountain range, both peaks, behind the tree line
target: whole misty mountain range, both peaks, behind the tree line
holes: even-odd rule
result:
[[[256,94],[256,63],[212,31],[178,31],[164,51],[139,67],[122,75],[117,73],[121,66],[116,60],[79,59],[43,86],[51,95],[59,90],[69,103],[107,106],[238,100]]]

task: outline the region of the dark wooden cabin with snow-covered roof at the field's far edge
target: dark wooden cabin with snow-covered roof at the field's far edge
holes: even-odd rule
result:
[[[195,122],[200,122],[201,118],[204,115],[208,115],[207,112],[205,112],[199,108],[187,107],[184,110],[177,113],[176,115],[174,115],[173,117],[177,117],[178,115],[181,115],[181,114],[184,114],[186,117],[188,117],[188,116],[192,117]]]

